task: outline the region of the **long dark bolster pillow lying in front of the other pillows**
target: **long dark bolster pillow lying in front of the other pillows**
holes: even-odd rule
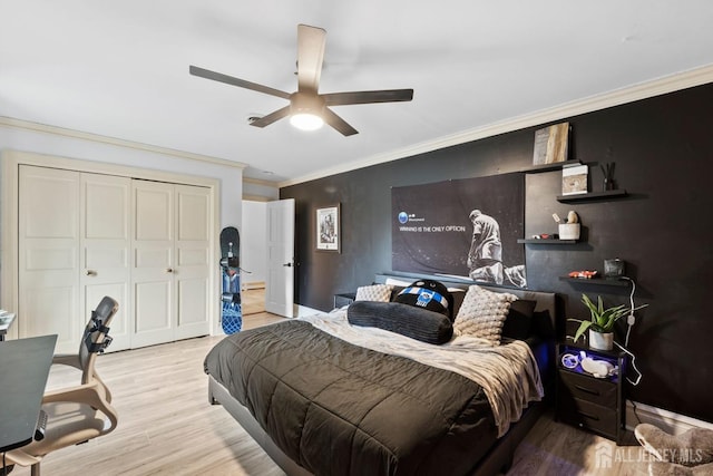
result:
[[[352,326],[379,328],[427,343],[446,343],[453,336],[447,315],[400,302],[356,301],[346,309]]]

